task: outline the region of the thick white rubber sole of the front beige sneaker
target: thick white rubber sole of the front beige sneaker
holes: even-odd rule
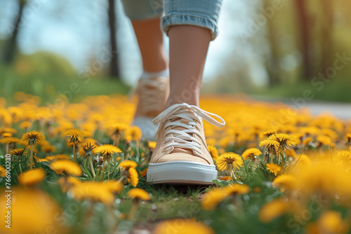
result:
[[[152,184],[213,184],[217,179],[215,165],[187,161],[150,163],[147,182]]]

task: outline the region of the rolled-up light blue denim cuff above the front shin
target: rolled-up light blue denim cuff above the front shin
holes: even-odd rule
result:
[[[166,15],[161,19],[161,27],[168,35],[168,29],[172,25],[194,25],[204,27],[211,30],[212,41],[218,35],[217,22],[209,18],[204,18],[197,15]]]

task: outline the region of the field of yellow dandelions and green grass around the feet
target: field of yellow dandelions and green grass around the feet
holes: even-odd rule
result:
[[[351,233],[351,120],[204,97],[213,186],[147,184],[125,96],[0,99],[0,233]]]

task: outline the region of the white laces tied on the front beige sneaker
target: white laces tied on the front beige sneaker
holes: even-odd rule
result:
[[[216,119],[211,116],[216,116],[220,119],[220,122],[216,121]],[[171,153],[175,147],[179,147],[181,149],[190,149],[195,155],[201,156],[201,144],[206,145],[206,142],[202,138],[197,125],[197,122],[202,123],[201,118],[219,128],[225,125],[225,121],[220,116],[186,103],[175,104],[154,118],[152,123],[155,125],[161,125],[170,119],[180,119],[179,121],[170,121],[164,125],[163,130],[171,127],[169,130],[164,132],[164,136],[171,134],[171,137],[167,137],[164,140],[164,148],[161,149],[161,153],[168,154]],[[181,123],[182,119],[188,121],[189,123]],[[176,127],[184,128],[184,130],[174,129]],[[160,134],[160,132],[161,129],[158,128],[156,137]],[[197,135],[199,139],[201,139],[201,142],[192,135]]]

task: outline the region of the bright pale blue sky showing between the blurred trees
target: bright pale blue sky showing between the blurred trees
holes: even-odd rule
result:
[[[119,1],[118,1],[119,2]],[[262,67],[252,60],[253,49],[243,43],[240,32],[247,30],[249,18],[254,18],[253,11],[258,0],[223,0],[220,15],[218,38],[211,42],[204,71],[204,82],[216,76],[223,68],[233,50],[243,59],[251,61],[253,77],[262,82]],[[11,32],[13,17],[18,6],[15,1],[0,0],[0,37],[6,38]],[[108,48],[107,1],[70,0],[48,1],[29,0],[24,13],[24,20],[18,44],[22,53],[31,54],[37,50],[48,50],[62,55],[78,70],[88,64],[91,57],[98,57],[104,48]],[[138,44],[128,18],[118,4],[118,40],[121,53],[122,76],[128,83],[135,83],[142,72]],[[168,39],[165,36],[166,48]]]

